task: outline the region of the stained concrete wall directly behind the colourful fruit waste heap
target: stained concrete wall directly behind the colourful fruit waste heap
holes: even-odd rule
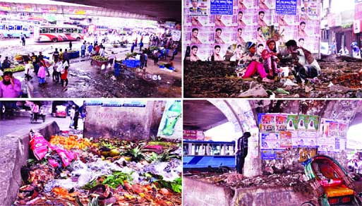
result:
[[[157,135],[164,105],[164,101],[147,101],[146,107],[88,106],[84,135],[87,138],[147,140]]]

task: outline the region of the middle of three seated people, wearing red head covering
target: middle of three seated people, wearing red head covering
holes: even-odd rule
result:
[[[267,48],[262,52],[262,58],[264,59],[264,68],[268,73],[269,78],[274,78],[277,73],[279,73],[279,69],[277,68],[277,62],[279,59],[277,57],[277,47],[274,40],[267,40]]]

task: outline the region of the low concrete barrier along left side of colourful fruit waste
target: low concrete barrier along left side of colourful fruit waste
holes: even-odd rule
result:
[[[59,126],[53,121],[36,131],[49,138],[59,132]],[[21,166],[30,156],[29,131],[24,129],[1,137],[0,151],[0,202],[1,205],[11,205],[21,186]]]

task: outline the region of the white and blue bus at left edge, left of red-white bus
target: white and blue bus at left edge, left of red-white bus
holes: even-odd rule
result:
[[[0,35],[2,37],[20,37],[24,34],[26,37],[30,37],[30,29],[28,25],[12,22],[0,23]]]

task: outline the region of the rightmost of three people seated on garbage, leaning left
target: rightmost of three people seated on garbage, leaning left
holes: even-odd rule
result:
[[[296,65],[291,73],[295,76],[297,83],[302,83],[307,78],[315,78],[320,75],[320,66],[307,49],[298,47],[295,40],[286,42],[286,48],[295,60]]]

